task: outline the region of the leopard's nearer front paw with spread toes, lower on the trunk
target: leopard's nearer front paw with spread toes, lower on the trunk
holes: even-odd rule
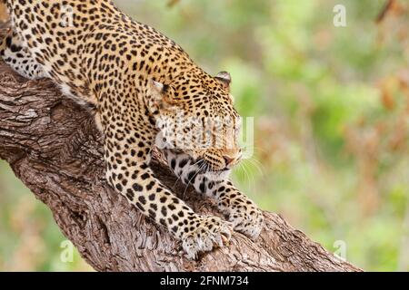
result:
[[[182,240],[182,247],[189,259],[195,259],[200,252],[211,251],[214,247],[224,247],[232,237],[233,228],[221,218],[200,217],[189,226]]]

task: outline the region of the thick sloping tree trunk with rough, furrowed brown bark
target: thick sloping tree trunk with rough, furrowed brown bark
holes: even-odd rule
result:
[[[0,27],[0,36],[4,32]],[[198,261],[185,259],[165,228],[107,185],[102,136],[90,112],[51,81],[27,81],[5,63],[0,63],[0,158],[51,209],[58,227],[98,271],[360,271],[269,212],[255,243],[234,233],[229,247]],[[176,193],[184,192],[157,158],[153,168]],[[185,200],[199,213],[219,215],[212,201],[192,189]]]

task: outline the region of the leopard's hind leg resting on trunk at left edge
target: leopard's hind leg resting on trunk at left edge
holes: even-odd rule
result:
[[[15,72],[31,79],[45,78],[46,74],[39,63],[23,45],[18,34],[10,30],[4,39],[0,39],[0,57],[10,65]]]

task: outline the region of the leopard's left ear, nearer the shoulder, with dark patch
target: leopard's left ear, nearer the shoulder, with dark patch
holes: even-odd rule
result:
[[[162,82],[156,82],[155,80],[149,81],[147,100],[148,109],[153,113],[172,111],[175,109],[171,87]]]

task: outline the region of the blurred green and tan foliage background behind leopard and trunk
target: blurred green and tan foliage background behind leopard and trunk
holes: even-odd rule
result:
[[[208,73],[232,74],[255,129],[254,158],[234,171],[240,189],[365,270],[409,271],[407,0],[115,3]],[[0,161],[0,270],[92,270],[76,253],[62,262],[64,241]]]

